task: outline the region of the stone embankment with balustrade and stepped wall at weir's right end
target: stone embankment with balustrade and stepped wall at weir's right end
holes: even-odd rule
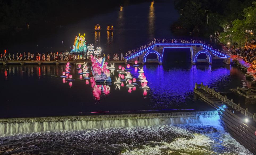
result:
[[[219,111],[221,124],[229,134],[245,148],[256,154],[256,113],[252,114],[240,104],[229,100],[226,95],[195,84],[194,93]]]

